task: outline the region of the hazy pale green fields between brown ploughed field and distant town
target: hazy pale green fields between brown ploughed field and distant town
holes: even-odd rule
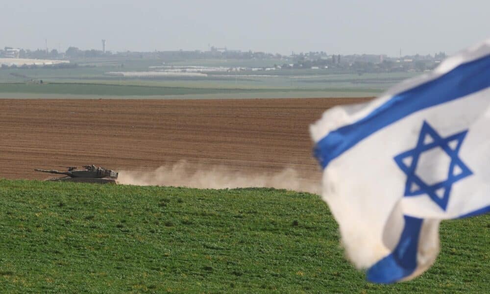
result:
[[[197,59],[166,61],[165,65],[226,69],[236,66],[266,67],[280,64],[279,61]],[[205,72],[206,76],[122,77],[108,73],[153,71],[155,69],[150,67],[161,66],[163,60],[95,59],[72,62],[79,66],[70,69],[0,69],[0,98],[49,98],[47,95],[50,94],[78,98],[175,98],[176,95],[180,96],[178,98],[200,98],[199,95],[218,95],[216,98],[372,97],[401,80],[420,74],[356,74],[338,69],[253,71],[248,68],[239,72]],[[40,80],[43,80],[43,85],[37,84]]]

